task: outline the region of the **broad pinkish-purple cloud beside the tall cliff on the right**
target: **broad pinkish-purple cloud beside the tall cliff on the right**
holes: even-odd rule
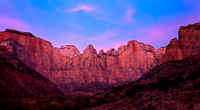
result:
[[[171,17],[154,26],[141,29],[139,32],[142,36],[137,40],[146,44],[153,44],[156,48],[160,48],[158,47],[160,45],[167,46],[172,38],[178,38],[178,29],[180,26],[199,22],[199,19],[200,15],[195,11],[187,13],[185,16],[179,16],[179,19]]]

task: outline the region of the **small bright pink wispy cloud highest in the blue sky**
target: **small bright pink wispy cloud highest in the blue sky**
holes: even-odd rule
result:
[[[91,5],[79,5],[73,9],[67,10],[67,12],[78,12],[78,11],[85,11],[85,12],[94,12],[97,11],[96,7]]]

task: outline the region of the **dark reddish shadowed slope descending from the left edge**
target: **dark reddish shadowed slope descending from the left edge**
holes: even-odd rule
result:
[[[0,98],[60,94],[56,84],[13,58],[0,46]]]

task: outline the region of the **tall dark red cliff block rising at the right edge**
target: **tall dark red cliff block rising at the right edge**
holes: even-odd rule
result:
[[[162,62],[176,61],[200,53],[200,23],[181,26],[178,40],[172,39],[166,48]]]

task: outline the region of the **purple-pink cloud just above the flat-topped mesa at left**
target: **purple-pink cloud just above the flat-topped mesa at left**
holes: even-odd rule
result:
[[[0,18],[0,25],[2,26],[1,28],[14,28],[24,31],[31,29],[31,27],[27,23],[19,19],[11,18],[4,15],[0,15]]]

